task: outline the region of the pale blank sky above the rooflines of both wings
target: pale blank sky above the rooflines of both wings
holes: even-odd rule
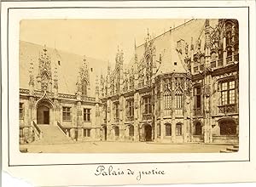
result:
[[[114,63],[117,48],[125,63],[149,33],[155,36],[185,20],[22,20],[20,40]],[[188,21],[188,20],[186,20]]]

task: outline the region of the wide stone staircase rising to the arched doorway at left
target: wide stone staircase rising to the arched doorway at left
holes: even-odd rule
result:
[[[69,139],[58,126],[52,125],[39,125],[39,129],[43,133],[42,139],[32,142],[32,144],[69,144],[74,143]]]

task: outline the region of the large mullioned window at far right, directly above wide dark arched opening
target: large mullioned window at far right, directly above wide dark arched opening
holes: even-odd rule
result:
[[[221,82],[221,105],[235,104],[235,81]]]

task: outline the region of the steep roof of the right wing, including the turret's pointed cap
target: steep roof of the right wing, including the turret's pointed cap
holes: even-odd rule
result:
[[[191,55],[190,45],[193,44],[196,48],[196,42],[198,39],[201,39],[201,48],[204,48],[205,36],[204,36],[204,28],[205,28],[206,20],[189,20],[181,26],[177,26],[172,28],[169,31],[161,34],[160,36],[154,37],[151,40],[154,40],[155,46],[155,54],[156,59],[161,59],[162,62],[159,67],[159,71],[157,75],[168,72],[186,72],[186,67],[183,65],[184,53],[182,55],[177,52],[177,41],[183,40],[184,43],[189,44],[189,56]],[[218,20],[210,20],[210,26],[215,27],[218,24]],[[191,42],[191,38],[193,37],[193,42]],[[136,53],[138,62],[144,58],[144,43],[137,46]],[[175,63],[175,64],[174,64]],[[134,58],[130,60],[129,68],[134,64]]]

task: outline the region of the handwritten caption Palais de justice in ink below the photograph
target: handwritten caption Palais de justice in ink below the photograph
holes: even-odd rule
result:
[[[145,175],[165,175],[166,172],[164,170],[159,170],[157,168],[149,169],[149,170],[131,170],[130,168],[114,168],[113,166],[98,166],[96,168],[96,172],[94,173],[96,176],[121,176],[121,175],[132,175],[135,176],[137,180],[141,180]]]

